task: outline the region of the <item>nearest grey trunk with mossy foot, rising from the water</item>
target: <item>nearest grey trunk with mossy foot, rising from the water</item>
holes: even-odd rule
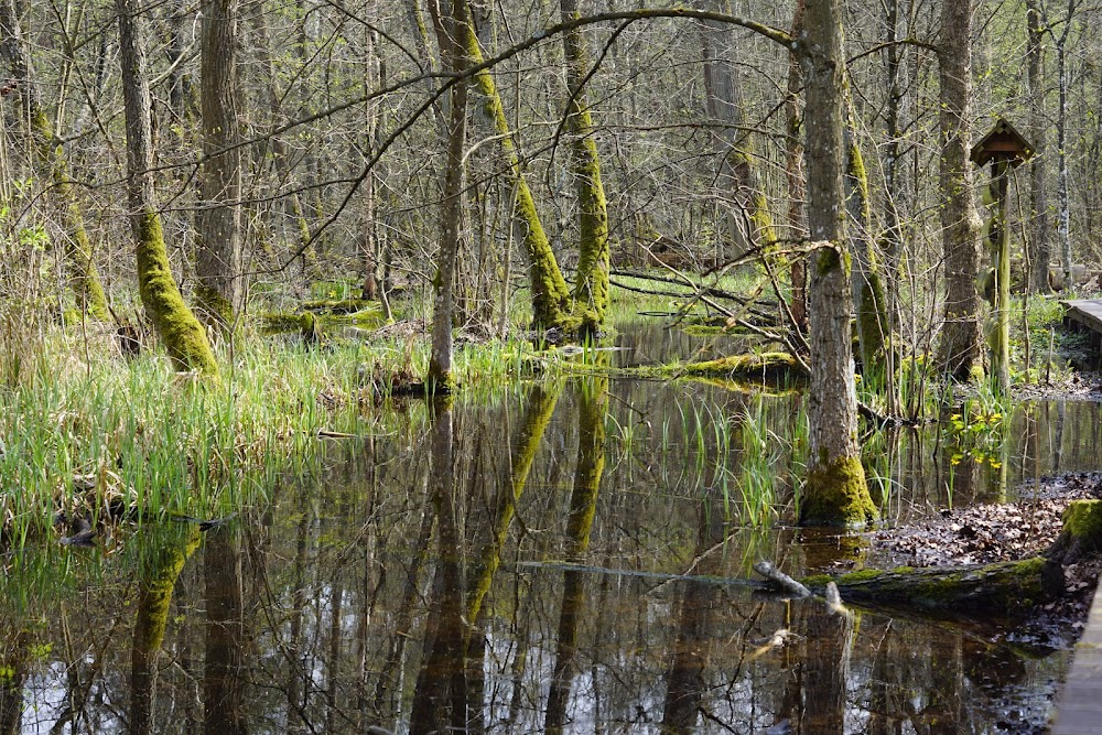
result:
[[[841,0],[808,0],[797,52],[807,82],[811,385],[809,460],[800,506],[806,525],[855,526],[876,516],[857,447],[850,347],[850,255],[843,219],[845,57]]]

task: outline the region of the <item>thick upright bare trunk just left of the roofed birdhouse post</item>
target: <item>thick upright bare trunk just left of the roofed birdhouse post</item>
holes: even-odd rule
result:
[[[941,47],[941,229],[946,263],[946,325],[940,363],[957,380],[980,365],[980,223],[972,201],[969,161],[972,94],[972,0],[942,3]]]

